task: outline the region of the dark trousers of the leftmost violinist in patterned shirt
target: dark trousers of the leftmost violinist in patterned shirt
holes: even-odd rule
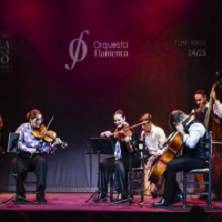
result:
[[[46,177],[47,177],[47,161],[44,154],[30,154],[22,152],[18,154],[15,161],[16,178],[16,194],[24,196],[25,188],[24,181],[28,172],[34,172],[36,175],[36,192],[39,197],[44,196],[46,189]]]

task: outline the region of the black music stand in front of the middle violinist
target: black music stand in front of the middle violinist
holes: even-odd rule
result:
[[[89,152],[88,154],[96,154],[97,155],[97,164],[99,169],[99,163],[101,160],[101,155],[113,155],[114,147],[112,139],[104,139],[98,137],[89,138]],[[98,173],[99,174],[99,173]],[[88,203],[95,195],[99,194],[99,190],[94,191],[89,199],[86,200]]]

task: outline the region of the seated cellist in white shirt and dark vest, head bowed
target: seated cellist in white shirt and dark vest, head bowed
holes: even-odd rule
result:
[[[201,122],[193,120],[181,110],[174,110],[169,117],[171,128],[181,133],[183,138],[183,154],[169,162],[164,173],[165,187],[160,202],[153,203],[154,207],[169,206],[177,201],[176,172],[189,171],[204,167],[207,159],[201,140],[206,129]]]

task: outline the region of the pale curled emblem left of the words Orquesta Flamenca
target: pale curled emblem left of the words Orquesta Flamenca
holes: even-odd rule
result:
[[[72,59],[72,64],[65,64],[65,69],[67,70],[72,70],[77,62],[81,62],[87,56],[88,48],[86,42],[83,40],[84,33],[88,35],[89,31],[82,31],[80,37],[77,39],[73,39],[69,44],[69,56]],[[76,47],[75,50],[74,47]]]

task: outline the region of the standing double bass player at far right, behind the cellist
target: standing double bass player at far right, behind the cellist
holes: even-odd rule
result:
[[[213,114],[219,118],[222,118],[222,103],[216,98],[215,90],[213,90],[212,92],[212,97],[214,99]],[[194,92],[194,101],[196,104],[196,108],[192,110],[192,113],[194,113],[196,118],[203,123],[205,113],[209,108],[207,95],[203,89],[198,89]]]

